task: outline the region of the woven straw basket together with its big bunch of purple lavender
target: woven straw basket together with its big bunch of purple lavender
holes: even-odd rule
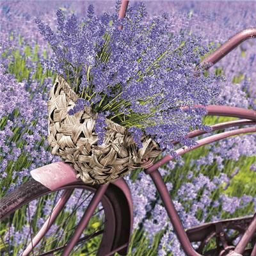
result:
[[[99,16],[89,6],[80,21],[58,10],[56,33],[36,19],[59,74],[50,93],[49,143],[84,182],[117,179],[163,149],[175,154],[173,140],[193,145],[188,132],[207,129],[205,108],[195,106],[218,95],[218,77],[198,69],[195,74],[209,51],[200,38],[171,33],[166,14],[147,19],[143,3],[121,20],[119,8],[117,3],[116,13]]]

